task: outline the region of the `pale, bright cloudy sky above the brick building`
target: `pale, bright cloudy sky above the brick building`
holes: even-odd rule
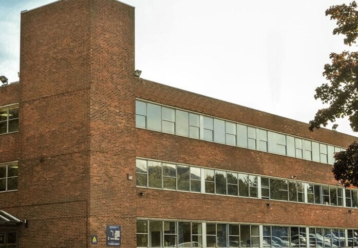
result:
[[[53,0],[0,0],[0,75],[17,81],[20,12]],[[337,0],[123,0],[136,8],[141,77],[308,123],[331,52],[357,51],[332,35]],[[358,136],[348,120],[337,131]],[[259,123],[257,124],[259,126]],[[327,128],[330,129],[332,124]]]

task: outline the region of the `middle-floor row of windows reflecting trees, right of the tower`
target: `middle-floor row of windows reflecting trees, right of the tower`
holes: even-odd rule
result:
[[[358,191],[343,187],[146,159],[136,171],[138,187],[358,208]]]

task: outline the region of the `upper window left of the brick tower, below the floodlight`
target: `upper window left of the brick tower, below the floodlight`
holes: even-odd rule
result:
[[[0,107],[0,134],[18,131],[18,105]]]

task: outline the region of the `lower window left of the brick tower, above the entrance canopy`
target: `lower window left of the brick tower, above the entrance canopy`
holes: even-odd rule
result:
[[[0,192],[17,190],[17,162],[0,164]]]

